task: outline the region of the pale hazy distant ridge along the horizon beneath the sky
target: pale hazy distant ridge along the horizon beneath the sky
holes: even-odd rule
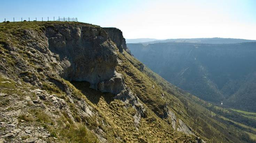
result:
[[[146,38],[147,39],[147,38]],[[127,41],[127,40],[126,40]],[[139,39],[137,40],[139,41]],[[133,41],[127,43],[143,43],[143,44],[154,44],[154,43],[204,43],[204,44],[235,44],[235,43],[245,43],[245,42],[256,42],[256,40],[248,40],[248,39],[235,39],[235,38],[179,38],[179,39],[162,39],[155,41],[145,41],[145,42],[135,42]]]

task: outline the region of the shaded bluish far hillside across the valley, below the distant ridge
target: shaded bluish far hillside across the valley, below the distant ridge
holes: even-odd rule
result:
[[[256,43],[128,46],[154,72],[197,97],[256,111]]]

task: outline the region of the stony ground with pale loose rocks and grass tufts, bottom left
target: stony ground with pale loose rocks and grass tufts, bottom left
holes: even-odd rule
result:
[[[7,80],[1,84],[9,82]],[[18,93],[11,90],[1,88],[0,91],[0,143],[58,142],[48,131],[47,124],[56,127],[54,124],[59,116],[52,112],[60,110],[60,105],[65,106],[65,101],[40,89],[17,86]],[[56,106],[48,108],[46,103]],[[34,120],[37,122],[32,122]]]

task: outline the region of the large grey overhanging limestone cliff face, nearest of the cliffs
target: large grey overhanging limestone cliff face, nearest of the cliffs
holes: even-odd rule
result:
[[[60,75],[69,81],[87,81],[91,87],[114,94],[124,90],[115,43],[101,27],[56,25],[46,29],[49,50],[60,57]],[[118,84],[118,86],[116,86]]]

